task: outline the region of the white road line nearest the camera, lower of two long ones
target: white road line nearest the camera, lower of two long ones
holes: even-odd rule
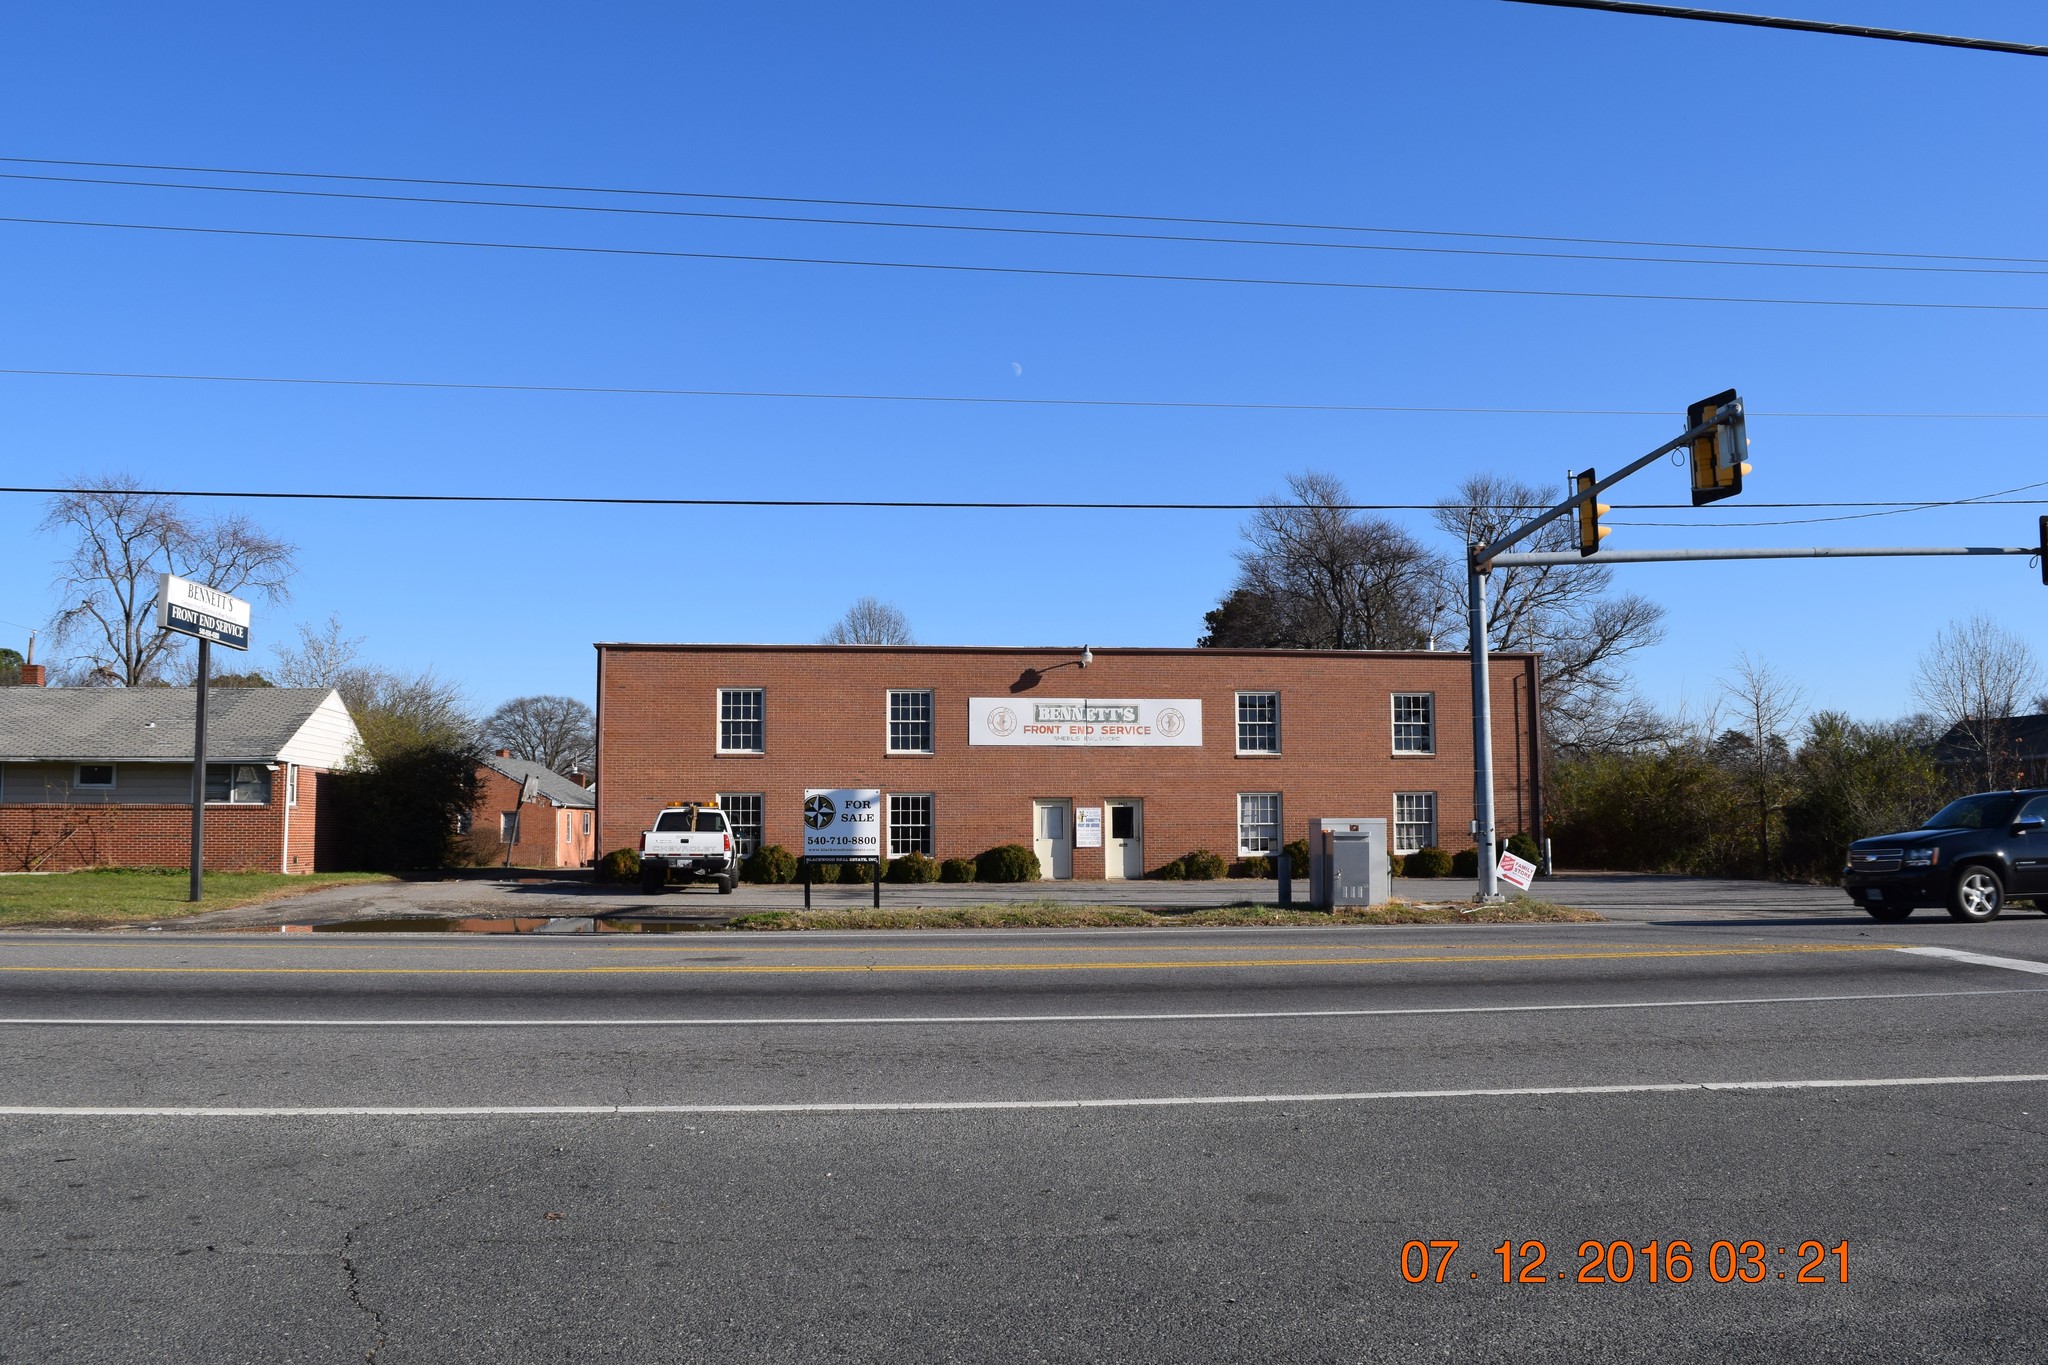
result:
[[[784,1105],[0,1105],[0,1117],[168,1117],[168,1119],[326,1119],[326,1117],[623,1117],[745,1113],[961,1113],[993,1109],[1167,1109],[1190,1105],[1327,1105],[1380,1099],[1542,1099],[1556,1095],[1679,1095],[1726,1091],[1847,1091],[1927,1085],[2028,1085],[2019,1076],[1886,1076],[1868,1081],[1675,1081],[1659,1085],[1542,1085],[1470,1091],[1337,1091],[1321,1095],[1167,1095],[1157,1099],[936,1099]]]

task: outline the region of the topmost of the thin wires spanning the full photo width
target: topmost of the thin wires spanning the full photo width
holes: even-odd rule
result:
[[[1561,237],[1540,233],[1456,231],[1442,227],[1384,227],[1360,223],[1288,223],[1274,219],[1214,219],[1163,213],[1092,213],[1081,209],[1020,209],[999,205],[934,205],[893,199],[811,199],[797,194],[719,194],[711,190],[647,190],[604,184],[535,184],[524,180],[444,180],[430,176],[344,176],[319,170],[264,170],[238,166],[164,166],[154,162],[78,162],[39,156],[0,156],[12,166],[82,166],[88,170],[154,170],[188,176],[252,176],[272,180],[344,180],[356,184],[424,184],[463,190],[537,190],[547,194],[621,194],[633,199],[694,199],[756,205],[817,205],[827,209],[907,209],[918,213],[987,213],[1010,217],[1092,219],[1104,223],[1178,223],[1188,227],[1264,227],[1276,231],[1378,233],[1399,237],[1470,237],[1479,241],[1550,241],[1561,246],[1638,246],[1673,252],[1769,252],[1778,256],[1872,256],[1884,260],[1964,260],[1985,264],[2048,266],[2044,256],[1960,256],[1954,252],[1866,252],[1825,246],[1753,246],[1729,241],[1659,241],[1636,237]]]

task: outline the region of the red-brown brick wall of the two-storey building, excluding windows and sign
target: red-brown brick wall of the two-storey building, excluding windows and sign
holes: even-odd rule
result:
[[[803,788],[934,796],[936,851],[1032,841],[1032,798],[1145,802],[1145,866],[1190,849],[1237,853],[1237,794],[1280,792],[1284,837],[1313,817],[1393,819],[1395,792],[1436,792],[1438,841],[1470,847],[1470,661],[1448,653],[1073,651],[920,647],[598,647],[598,849],[635,847],[670,800],[762,792],[764,843],[803,845]],[[1067,665],[1057,667],[1055,665]],[[1038,669],[1036,686],[1012,692]],[[1536,833],[1534,655],[1495,655],[1493,743],[1501,837]],[[717,753],[717,690],[766,692],[766,753]],[[891,755],[887,690],[934,692],[934,753]],[[1237,692],[1278,692],[1280,755],[1237,755]],[[1436,696],[1436,753],[1393,753],[1391,694]],[[971,696],[1200,698],[1202,747],[969,745]],[[1073,876],[1100,878],[1102,849]]]

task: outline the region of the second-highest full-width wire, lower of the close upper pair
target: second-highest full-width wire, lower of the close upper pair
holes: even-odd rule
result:
[[[1737,266],[1749,270],[1874,270],[1886,274],[2048,274],[2028,266],[1907,266],[1841,260],[1718,260],[1706,256],[1620,256],[1614,252],[1516,252],[1477,246],[1399,246],[1391,241],[1286,241],[1278,237],[1200,237],[1161,231],[1106,231],[1094,227],[1008,227],[1001,223],[905,223],[895,219],[838,219],[797,213],[731,213],[717,209],[639,209],[631,205],[543,205],[520,199],[451,199],[434,194],[369,194],[362,190],[291,190],[268,184],[188,184],[174,180],[109,180],[94,176],[37,176],[0,172],[0,180],[33,180],[39,184],[98,184],[139,190],[203,190],[209,194],[274,194],[291,199],[340,199],[385,205],[438,205],[463,209],[543,209],[551,213],[612,213],[664,219],[715,219],[737,223],[801,223],[811,227],[893,227],[918,231],[993,233],[1014,237],[1085,237],[1094,241],[1174,241],[1194,246],[1276,246],[1311,252],[1386,252],[1403,256],[1489,256],[1507,260],[1597,260],[1645,266]]]

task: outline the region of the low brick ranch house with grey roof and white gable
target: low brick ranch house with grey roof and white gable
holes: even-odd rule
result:
[[[190,688],[0,688],[0,870],[188,866],[193,710]],[[207,868],[334,868],[356,741],[328,688],[211,690]]]

